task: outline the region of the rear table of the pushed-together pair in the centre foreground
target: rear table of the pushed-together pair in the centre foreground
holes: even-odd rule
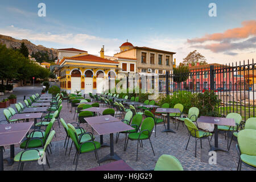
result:
[[[109,119],[106,120],[105,118],[109,118]],[[84,118],[84,119],[87,123],[89,123],[90,126],[92,126],[93,124],[120,121],[120,119],[115,118],[112,115],[101,115],[101,116],[97,116],[97,117],[88,117],[88,118]],[[108,144],[103,143],[103,135],[100,135],[100,143],[101,143],[101,147],[109,146]]]

